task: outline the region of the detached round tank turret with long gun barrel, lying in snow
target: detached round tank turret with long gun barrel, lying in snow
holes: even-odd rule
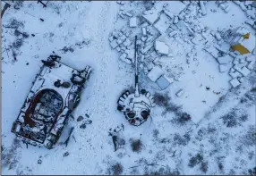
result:
[[[139,72],[138,72],[138,46],[137,36],[135,37],[135,91],[129,90],[119,97],[117,101],[117,110],[124,113],[125,118],[134,126],[140,126],[149,119],[151,108],[154,106],[153,97],[150,93],[139,88]]]

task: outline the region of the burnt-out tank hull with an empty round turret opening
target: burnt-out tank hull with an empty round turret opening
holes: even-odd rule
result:
[[[50,55],[40,68],[12,132],[32,146],[54,147],[65,124],[79,105],[91,68],[75,70]]]

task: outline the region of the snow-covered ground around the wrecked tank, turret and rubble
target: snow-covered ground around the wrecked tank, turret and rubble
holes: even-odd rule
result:
[[[249,18],[246,11],[239,5],[227,1],[226,13],[210,1],[205,4],[207,14],[201,15],[200,4],[185,1],[60,1],[48,2],[46,8],[29,1],[10,4],[2,19],[3,174],[234,175],[249,174],[248,170],[256,167],[255,64],[243,82],[232,88],[228,71],[220,72],[217,60],[205,51],[206,46],[218,45],[210,31],[243,26],[255,36],[255,29],[245,23]],[[255,13],[252,2],[244,4]],[[157,29],[162,33],[152,35],[152,45],[158,38],[171,53],[156,54],[158,61],[154,63],[175,81],[160,90],[146,75],[145,68],[151,63],[145,54],[141,88],[162,95],[166,104],[158,101],[151,118],[133,127],[117,111],[116,101],[125,89],[133,87],[134,67],[120,59],[121,51],[111,48],[109,36],[125,28],[131,31],[127,38],[132,42],[135,34],[141,37],[141,23],[145,22],[141,15],[151,8],[174,15],[169,21],[175,38],[166,31],[166,17],[150,28],[152,33]],[[138,24],[130,28],[129,20],[134,16]],[[183,21],[196,32],[190,34]],[[62,57],[62,63],[75,69],[90,65],[93,70],[73,113],[75,120],[70,119],[60,141],[48,150],[26,146],[15,139],[11,128],[41,60],[53,51]],[[249,56],[255,61],[253,54],[244,58]],[[183,95],[176,96],[180,89]],[[87,118],[86,113],[92,123],[81,129],[76,119]],[[190,114],[191,120],[181,121],[183,113]],[[73,138],[65,147],[63,141],[72,127]],[[110,134],[117,136],[116,151]]]

